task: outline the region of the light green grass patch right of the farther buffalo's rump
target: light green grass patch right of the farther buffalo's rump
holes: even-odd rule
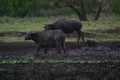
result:
[[[120,27],[120,20],[83,21],[84,31],[107,30]]]

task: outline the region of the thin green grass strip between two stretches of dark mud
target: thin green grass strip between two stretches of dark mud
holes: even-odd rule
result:
[[[0,64],[17,64],[17,63],[120,63],[120,60],[40,60],[40,59],[33,59],[33,60],[1,60]]]

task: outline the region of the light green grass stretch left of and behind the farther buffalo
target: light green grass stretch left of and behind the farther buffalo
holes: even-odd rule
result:
[[[25,17],[12,18],[0,17],[0,32],[6,31],[41,31],[44,24],[53,23],[59,18],[69,18],[64,16],[59,17]]]

